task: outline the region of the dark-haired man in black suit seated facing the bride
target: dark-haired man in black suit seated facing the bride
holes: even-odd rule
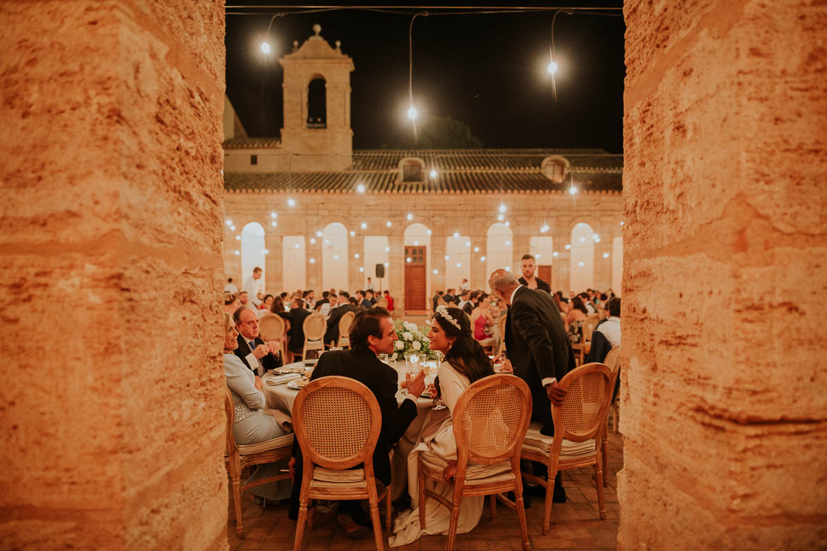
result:
[[[408,397],[399,404],[396,401],[396,370],[376,357],[377,354],[394,353],[396,331],[390,313],[385,308],[358,311],[353,318],[348,338],[351,349],[322,354],[310,379],[330,375],[349,377],[361,382],[373,392],[382,412],[380,435],[373,454],[373,469],[376,479],[385,486],[390,486],[388,454],[417,416],[416,401],[425,389],[425,372],[420,371],[418,376],[409,382]],[[296,442],[298,443],[298,440]],[[294,458],[290,460],[290,468],[294,470],[294,480],[289,515],[294,519],[298,518],[302,479],[301,449],[298,444],[294,445]],[[351,538],[369,538],[371,535],[370,530],[364,528],[367,520],[358,501],[341,501],[337,520]]]

